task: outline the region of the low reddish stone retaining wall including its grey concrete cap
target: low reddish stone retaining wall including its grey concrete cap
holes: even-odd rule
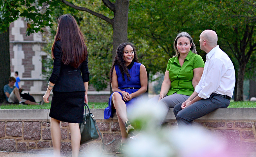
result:
[[[105,154],[114,154],[121,142],[117,117],[104,120],[104,109],[91,109],[103,135]],[[219,108],[197,119],[193,125],[201,125],[220,135],[230,148],[256,155],[256,108]],[[172,109],[167,116],[167,127],[178,128]],[[102,140],[98,138],[81,145],[81,150],[101,151]],[[0,110],[0,151],[53,154],[49,109]],[[68,123],[61,123],[61,152],[71,155]]]

